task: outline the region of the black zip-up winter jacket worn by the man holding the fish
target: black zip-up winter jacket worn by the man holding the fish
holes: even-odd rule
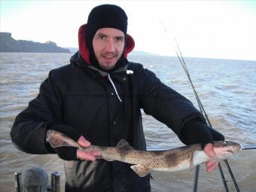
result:
[[[183,142],[184,123],[202,117],[184,96],[133,62],[126,66],[133,74],[126,70],[110,74],[120,102],[108,78],[84,60],[76,53],[71,64],[52,70],[38,96],[17,115],[11,130],[17,148],[30,154],[52,153],[45,143],[47,127],[72,126],[93,145],[116,146],[126,139],[133,148],[145,150],[141,109],[169,126]],[[140,178],[126,163],[65,161],[65,171],[66,191],[150,191],[149,175]]]

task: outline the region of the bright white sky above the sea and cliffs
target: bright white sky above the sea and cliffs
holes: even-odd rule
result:
[[[0,32],[16,40],[78,47],[79,26],[96,5],[119,5],[135,50],[175,56],[256,60],[255,1],[0,0]]]

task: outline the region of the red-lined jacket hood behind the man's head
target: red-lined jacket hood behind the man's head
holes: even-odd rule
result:
[[[86,41],[86,32],[87,32],[87,24],[82,25],[78,31],[78,46],[79,52],[81,54],[82,59],[90,65],[90,53],[89,48],[87,47]],[[123,56],[126,59],[127,55],[132,52],[135,46],[135,42],[131,35],[126,34],[126,44],[123,51]]]

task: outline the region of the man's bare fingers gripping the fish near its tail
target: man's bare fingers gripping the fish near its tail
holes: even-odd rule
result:
[[[84,136],[81,136],[78,139],[78,144],[81,145],[84,148],[90,147],[90,142],[88,142],[86,139],[84,139]],[[81,150],[77,150],[77,158],[80,159],[80,160],[94,161],[99,156],[101,156],[99,151],[81,151]]]

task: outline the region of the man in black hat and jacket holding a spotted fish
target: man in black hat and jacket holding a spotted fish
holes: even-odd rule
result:
[[[45,141],[47,130],[64,133],[84,147],[90,142],[116,146],[126,139],[133,148],[145,150],[142,108],[166,123],[184,144],[201,143],[211,157],[211,142],[224,140],[184,96],[142,65],[127,61],[134,41],[126,30],[121,8],[93,8],[79,29],[79,51],[71,64],[50,72],[12,127],[11,139],[20,150],[56,153],[66,160],[66,191],[150,191],[150,175],[140,178],[126,163],[96,160],[99,151],[51,148]],[[206,166],[211,171],[216,163]]]

